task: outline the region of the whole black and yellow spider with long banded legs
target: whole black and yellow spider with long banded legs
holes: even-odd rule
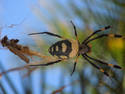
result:
[[[80,55],[82,55],[82,57],[89,62],[92,66],[94,66],[95,68],[97,68],[98,70],[100,70],[101,72],[103,72],[106,76],[109,76],[109,74],[104,71],[104,69],[102,69],[101,67],[99,67],[98,65],[94,64],[92,61],[94,62],[98,62],[104,65],[107,65],[109,67],[114,67],[117,69],[122,69],[120,66],[118,65],[113,65],[113,64],[108,64],[106,62],[103,62],[101,60],[95,59],[93,57],[90,57],[87,53],[91,50],[91,47],[88,45],[88,43],[90,43],[93,40],[102,38],[102,37],[115,37],[115,38],[122,38],[122,35],[118,35],[118,34],[101,34],[98,35],[94,38],[92,38],[92,36],[94,36],[95,34],[97,34],[98,32],[107,30],[109,28],[111,28],[111,26],[106,26],[104,28],[101,28],[100,30],[96,30],[95,32],[93,32],[91,35],[89,35],[82,43],[79,42],[78,40],[78,36],[77,36],[77,32],[76,32],[76,27],[73,24],[73,22],[71,21],[73,28],[74,28],[74,34],[76,37],[75,39],[66,39],[60,35],[54,34],[54,33],[50,33],[50,32],[39,32],[39,33],[30,33],[29,35],[35,35],[35,34],[47,34],[50,36],[54,36],[57,38],[61,38],[61,41],[56,42],[55,44],[53,44],[50,48],[49,48],[49,53],[53,56],[56,57],[57,60],[54,61],[50,61],[46,64],[30,64],[30,66],[48,66],[51,64],[55,64],[55,63],[59,63],[63,60],[68,60],[69,58],[73,58],[76,57],[75,62],[74,62],[74,67],[73,67],[73,71],[71,73],[71,75],[74,73],[75,68],[76,68],[76,64],[77,64],[77,60],[78,57]]]

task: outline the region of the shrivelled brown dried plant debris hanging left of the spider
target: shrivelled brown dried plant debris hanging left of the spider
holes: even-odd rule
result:
[[[9,40],[7,36],[4,36],[1,40],[1,44],[3,47],[8,48],[12,53],[19,56],[26,63],[29,63],[29,59],[27,56],[43,57],[43,55],[41,55],[40,53],[32,51],[28,46],[18,44],[18,42],[18,39]]]

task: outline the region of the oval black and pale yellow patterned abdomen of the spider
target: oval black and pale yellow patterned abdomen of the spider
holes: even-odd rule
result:
[[[74,49],[75,48],[75,49]],[[78,52],[78,43],[76,40],[61,40],[49,48],[49,53],[61,59],[74,57]]]

